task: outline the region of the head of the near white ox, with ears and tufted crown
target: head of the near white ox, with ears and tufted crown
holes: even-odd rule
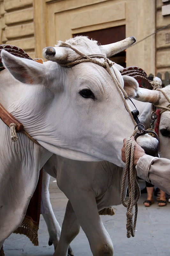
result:
[[[107,46],[102,48],[86,37],[73,38],[70,44],[89,55],[112,54]],[[11,97],[9,105],[5,103],[7,110],[35,140],[52,153],[67,158],[104,159],[122,166],[122,141],[133,133],[134,124],[115,81],[121,87],[125,81],[131,97],[138,90],[134,78],[122,77],[113,66],[113,80],[105,68],[90,62],[71,68],[52,61],[42,65],[5,51],[2,60],[15,78],[12,80],[10,76],[9,87],[12,84],[16,90],[11,96],[7,92],[8,97],[1,94],[2,99]],[[3,79],[1,87],[8,87],[2,84]]]

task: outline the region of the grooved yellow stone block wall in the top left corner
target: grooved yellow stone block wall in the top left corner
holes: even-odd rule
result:
[[[1,0],[1,44],[16,45],[35,57],[33,0]]]

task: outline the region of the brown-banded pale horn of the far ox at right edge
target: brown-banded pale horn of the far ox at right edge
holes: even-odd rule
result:
[[[160,100],[159,91],[149,90],[145,88],[138,88],[137,95],[133,97],[135,100],[150,102],[152,104],[158,104]]]

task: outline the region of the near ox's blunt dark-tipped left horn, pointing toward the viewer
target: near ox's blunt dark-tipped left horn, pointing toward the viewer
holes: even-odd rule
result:
[[[52,60],[58,63],[67,62],[67,51],[63,47],[46,47],[42,50],[42,54],[46,60]]]

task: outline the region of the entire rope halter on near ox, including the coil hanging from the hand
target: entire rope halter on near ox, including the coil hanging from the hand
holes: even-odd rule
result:
[[[126,110],[128,111],[129,115],[131,116],[133,124],[136,126],[137,123],[134,120],[131,110],[129,109],[129,105],[126,101],[128,99],[128,95],[125,92],[125,90],[123,89],[121,82],[120,82],[119,78],[117,77],[115,70],[112,67],[114,63],[112,61],[110,61],[109,59],[107,59],[104,55],[94,54],[94,55],[88,56],[88,55],[80,52],[78,49],[74,48],[70,44],[67,44],[64,42],[62,42],[60,44],[60,46],[69,47],[70,49],[77,52],[81,57],[78,60],[72,61],[70,63],[64,63],[64,64],[58,63],[59,65],[66,67],[66,68],[70,68],[70,67],[73,67],[82,62],[92,62],[92,63],[97,64],[107,70],[109,75],[112,77],[113,82],[115,83],[116,89],[118,90],[118,92],[123,100]],[[104,61],[103,62],[101,60],[99,61],[96,58],[104,59]],[[137,132],[137,128],[135,129],[135,132],[133,134],[135,134],[136,132]],[[134,141],[132,141],[129,138],[127,143],[129,145],[125,148],[125,150],[128,152],[126,154],[128,154],[127,158],[129,159],[130,162],[129,161],[126,162],[125,172],[124,172],[123,181],[122,181],[123,183],[122,183],[122,189],[121,189],[121,202],[125,207],[127,207],[126,228],[127,228],[127,237],[130,237],[130,236],[135,236],[135,228],[136,228],[136,221],[137,221],[137,201],[139,200],[139,197],[140,197],[140,188],[137,183],[137,171],[133,167]],[[126,180],[127,175],[128,175],[128,187],[129,187],[128,205],[126,205],[124,203],[124,199],[123,199],[123,192],[125,189],[125,180]],[[134,205],[135,205],[135,219],[134,219],[134,224],[133,224],[133,206]]]

